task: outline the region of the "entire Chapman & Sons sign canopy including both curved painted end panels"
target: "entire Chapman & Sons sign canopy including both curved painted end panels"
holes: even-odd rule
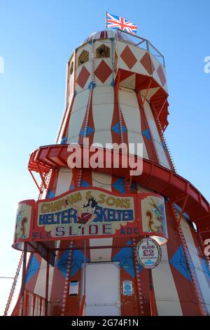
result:
[[[13,247],[22,251],[20,242],[141,236],[167,242],[162,196],[80,187],[52,199],[19,202]]]

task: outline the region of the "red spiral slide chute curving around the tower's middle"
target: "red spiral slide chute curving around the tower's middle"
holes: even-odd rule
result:
[[[83,156],[85,154],[85,146],[80,146],[82,152],[81,157],[83,161]],[[89,150],[90,151],[90,150]],[[104,159],[110,157],[113,161],[113,150],[104,149]],[[43,168],[43,171],[47,172],[52,169],[52,167],[68,167],[67,160],[71,154],[68,151],[68,145],[50,145],[45,147],[40,147],[35,150],[29,160],[29,170],[38,172],[37,164]],[[90,151],[90,157],[92,152]],[[123,157],[125,155],[120,154],[120,164],[122,164]],[[127,156],[126,156],[127,157]],[[135,157],[136,161],[136,157]],[[126,169],[119,168],[116,169],[112,163],[111,169],[100,168],[99,171],[102,173],[112,173],[112,175],[123,176],[127,178],[130,175],[130,168]],[[91,165],[90,165],[91,169]],[[94,171],[95,169],[93,169]],[[188,193],[188,200],[186,202],[185,211],[189,214],[191,221],[194,221],[197,225],[198,230],[202,233],[203,230],[209,230],[209,220],[210,220],[210,206],[207,199],[205,199],[202,194],[186,180],[178,174],[174,173],[163,166],[154,164],[148,159],[143,159],[143,172],[141,176],[136,176],[135,180],[139,185],[147,186],[151,190],[155,190],[158,194],[163,194],[171,199],[171,201],[176,202],[182,207],[182,201],[180,202],[180,196],[184,193]]]

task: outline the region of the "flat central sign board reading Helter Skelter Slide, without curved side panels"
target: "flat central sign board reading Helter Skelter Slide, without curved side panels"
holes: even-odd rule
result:
[[[34,241],[139,235],[136,196],[99,188],[37,202]]]

